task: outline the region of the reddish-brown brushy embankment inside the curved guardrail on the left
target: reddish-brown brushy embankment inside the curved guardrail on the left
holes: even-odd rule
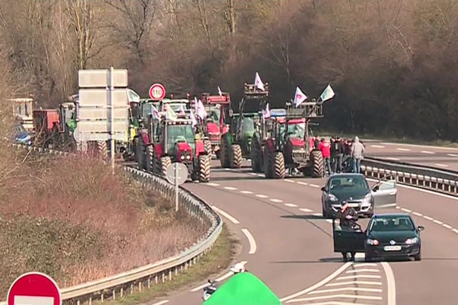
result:
[[[2,154],[2,296],[25,272],[50,274],[67,287],[175,255],[206,231],[100,160]]]

